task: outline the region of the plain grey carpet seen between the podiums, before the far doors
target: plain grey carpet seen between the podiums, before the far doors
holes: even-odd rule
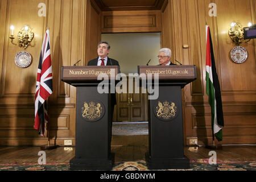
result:
[[[148,122],[113,122],[114,136],[148,135]]]

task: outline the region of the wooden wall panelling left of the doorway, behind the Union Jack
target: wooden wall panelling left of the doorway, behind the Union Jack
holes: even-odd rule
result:
[[[42,1],[40,1],[42,2]],[[1,81],[5,82],[5,86],[2,89],[2,98],[0,99],[1,111],[0,113],[0,127],[3,129],[0,132],[1,143],[0,144],[11,144],[11,145],[39,145],[47,144],[47,139],[39,137],[38,131],[33,129],[34,125],[34,90],[35,90],[35,79],[36,71],[38,69],[38,61],[40,51],[42,47],[44,33],[46,31],[47,23],[49,24],[50,36],[51,36],[51,57],[52,57],[52,70],[53,70],[53,94],[49,97],[49,109],[48,113],[50,116],[51,123],[51,137],[53,142],[63,145],[64,139],[72,139],[75,143],[75,103],[76,103],[76,89],[69,85],[64,85],[60,80],[60,71],[62,65],[71,65],[73,59],[77,59],[80,51],[80,40],[79,34],[79,11],[80,3],[84,1],[44,1],[47,7],[47,16],[38,18],[38,3],[34,1],[28,6],[27,2],[16,3],[16,1],[3,1],[1,2],[1,16],[4,14],[3,8],[7,9],[6,17],[6,28],[5,31],[9,32],[10,24],[14,24],[15,30],[18,32],[19,24],[16,22],[25,24],[35,31],[35,38],[32,41],[32,47],[29,47],[26,51],[30,52],[33,57],[33,62],[30,67],[26,69],[17,69],[14,61],[11,59],[11,53],[22,51],[22,48],[14,46],[9,43],[9,38],[5,36],[5,47],[1,47],[3,63],[6,68],[2,68],[1,71],[8,69],[15,70],[18,72],[19,78],[15,79],[11,77],[12,82],[24,80],[24,76],[31,75],[24,84],[26,88],[9,89],[12,85],[9,84],[7,78],[10,73],[3,74]],[[77,4],[78,3],[78,4]],[[11,4],[11,5],[10,5]],[[6,6],[3,6],[6,5]],[[8,6],[7,6],[8,5]],[[24,8],[20,7],[24,6]],[[36,16],[23,15],[20,13],[25,7],[31,7],[32,14]],[[80,9],[81,10],[81,9]],[[15,12],[15,13],[14,13]],[[30,11],[31,14],[31,11]],[[22,17],[22,18],[20,18]],[[27,18],[30,18],[28,22]],[[32,18],[31,18],[32,17]],[[2,19],[1,19],[2,20]],[[30,25],[31,24],[31,25]],[[2,29],[1,29],[2,30]],[[72,36],[75,32],[75,36]],[[14,31],[14,34],[16,32]],[[33,44],[34,42],[34,44]],[[3,43],[3,42],[1,42]],[[2,46],[3,44],[1,44]],[[84,55],[84,54],[82,54]],[[2,60],[1,60],[2,61]],[[7,64],[8,63],[8,64]],[[16,69],[18,71],[16,71]],[[34,73],[34,74],[30,74]],[[6,85],[8,83],[9,85]],[[24,85],[22,82],[22,85]],[[57,85],[57,86],[55,86]],[[7,104],[8,103],[8,104]],[[15,126],[15,127],[14,127]],[[2,139],[3,138],[3,139]]]

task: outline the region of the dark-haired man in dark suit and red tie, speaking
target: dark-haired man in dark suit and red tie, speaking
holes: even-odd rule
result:
[[[110,52],[110,45],[108,42],[100,42],[98,43],[98,57],[96,59],[90,60],[88,62],[88,66],[111,66],[111,65],[119,65],[117,60],[111,59],[108,57]],[[115,93],[111,94],[111,115],[113,119],[114,114],[114,106],[117,104],[117,99],[115,98]],[[112,138],[112,121],[110,121],[110,138]]]

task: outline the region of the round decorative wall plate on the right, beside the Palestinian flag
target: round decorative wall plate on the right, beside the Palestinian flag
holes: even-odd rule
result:
[[[241,64],[246,61],[248,54],[245,48],[237,46],[232,49],[230,56],[235,63]]]

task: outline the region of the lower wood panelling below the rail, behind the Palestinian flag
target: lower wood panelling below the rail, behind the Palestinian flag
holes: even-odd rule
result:
[[[255,104],[247,104],[243,107],[233,103],[225,104],[223,130],[223,141],[219,143],[250,143],[256,142],[256,123],[255,123]],[[189,109],[190,108],[190,109]],[[191,129],[187,131],[187,139],[197,137],[199,144],[212,142],[212,126],[210,107],[207,103],[204,105],[187,105],[186,114],[191,115],[191,121],[187,126]],[[243,140],[243,139],[248,140]],[[188,144],[187,140],[187,144]]]

